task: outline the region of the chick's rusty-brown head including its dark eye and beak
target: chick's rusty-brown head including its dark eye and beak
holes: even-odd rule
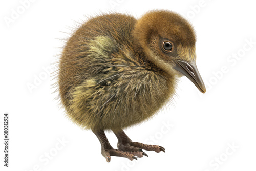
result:
[[[185,75],[202,93],[206,92],[195,63],[195,31],[179,14],[166,10],[146,13],[136,23],[133,40],[135,49],[159,69]]]

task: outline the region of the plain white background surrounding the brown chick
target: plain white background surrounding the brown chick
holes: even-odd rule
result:
[[[3,166],[1,143],[1,170],[256,169],[253,1],[37,0],[25,6],[23,11],[17,0],[0,4],[1,137],[3,114],[10,115],[9,168]],[[161,145],[166,153],[146,152],[149,157],[138,161],[112,157],[107,163],[96,136],[71,123],[57,107],[48,72],[61,51],[59,39],[68,38],[85,16],[119,11],[140,17],[150,9],[176,11],[194,25],[197,66],[207,92],[201,94],[182,77],[173,104],[126,130],[132,140]],[[13,11],[20,14],[8,24]],[[114,134],[107,136],[116,148]]]

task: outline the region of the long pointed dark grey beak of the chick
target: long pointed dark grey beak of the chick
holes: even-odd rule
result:
[[[188,79],[190,79],[190,81],[195,84],[200,92],[206,92],[204,82],[201,75],[199,74],[196,62],[185,62],[181,60],[176,60],[176,66],[174,67],[174,69],[181,72]]]

